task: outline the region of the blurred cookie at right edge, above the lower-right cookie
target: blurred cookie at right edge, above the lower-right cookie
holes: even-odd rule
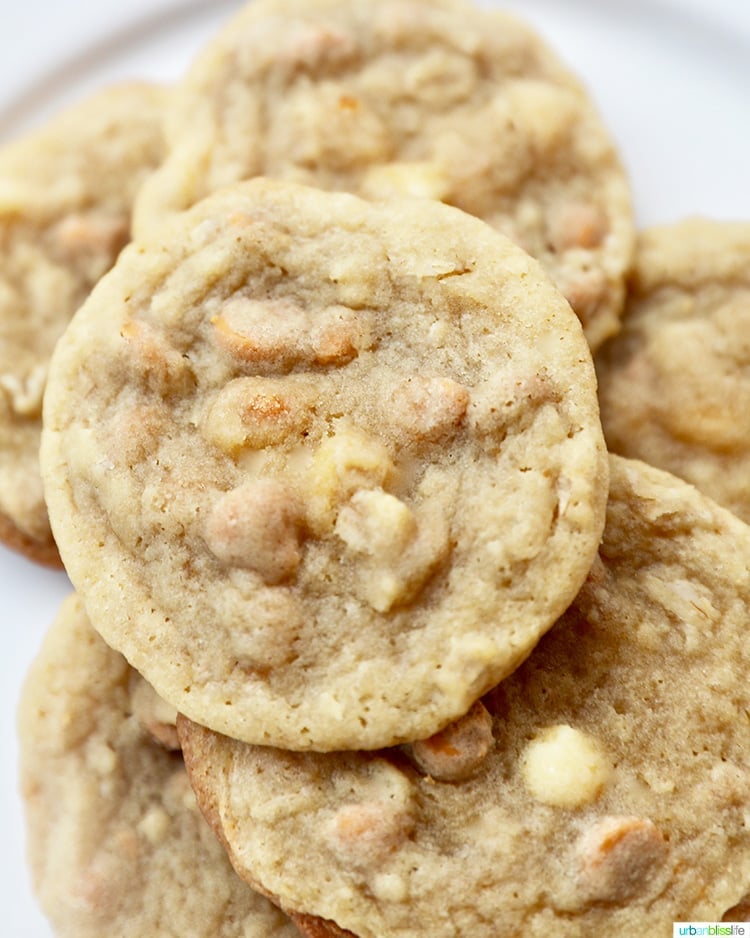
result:
[[[610,449],[750,521],[750,224],[645,231],[623,330],[597,356]]]

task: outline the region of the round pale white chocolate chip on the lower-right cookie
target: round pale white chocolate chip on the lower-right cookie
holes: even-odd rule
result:
[[[595,739],[572,726],[550,726],[526,747],[523,777],[544,804],[575,808],[593,801],[611,766]]]

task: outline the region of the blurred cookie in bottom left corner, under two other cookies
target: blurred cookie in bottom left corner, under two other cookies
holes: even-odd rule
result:
[[[69,597],[18,715],[29,860],[55,933],[294,938],[291,922],[235,875],[179,753],[141,723],[149,695]]]

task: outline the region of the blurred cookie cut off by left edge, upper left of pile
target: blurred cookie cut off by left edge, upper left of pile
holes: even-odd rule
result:
[[[59,566],[39,476],[52,349],[129,239],[166,91],[109,88],[0,150],[0,540]]]

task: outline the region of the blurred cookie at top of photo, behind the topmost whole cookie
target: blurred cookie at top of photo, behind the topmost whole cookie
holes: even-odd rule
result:
[[[460,0],[253,0],[168,116],[142,229],[265,175],[477,215],[539,259],[595,348],[618,327],[629,185],[587,92],[523,23]]]

